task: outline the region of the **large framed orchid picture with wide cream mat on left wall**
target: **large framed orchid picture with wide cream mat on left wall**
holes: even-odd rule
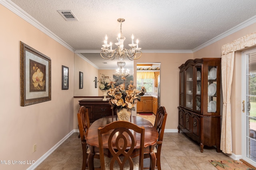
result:
[[[51,100],[51,59],[20,42],[20,105]]]

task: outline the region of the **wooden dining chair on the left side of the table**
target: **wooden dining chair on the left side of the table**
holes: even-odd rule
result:
[[[85,132],[90,127],[90,119],[89,119],[89,113],[88,109],[84,106],[81,106],[78,113],[77,113],[77,119],[78,119],[78,128],[82,143],[82,152],[83,152],[83,164],[82,164],[82,170],[85,170],[87,167],[87,157],[90,153],[90,148],[88,148],[85,140]],[[99,159],[99,154],[95,154],[94,158]],[[100,168],[98,168],[100,169]]]

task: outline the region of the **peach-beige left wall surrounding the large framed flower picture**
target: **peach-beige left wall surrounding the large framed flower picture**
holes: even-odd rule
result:
[[[74,53],[0,5],[0,160],[38,160],[73,128]],[[52,100],[20,106],[20,41],[50,57]],[[69,89],[61,89],[62,65]],[[32,152],[37,144],[36,152]],[[30,165],[3,165],[24,170]]]

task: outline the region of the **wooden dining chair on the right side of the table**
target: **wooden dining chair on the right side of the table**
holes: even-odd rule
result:
[[[161,148],[162,142],[164,138],[164,128],[166,123],[167,113],[164,106],[161,106],[157,109],[156,120],[154,127],[158,131],[158,141],[156,142],[156,147],[154,148],[154,152],[156,154],[156,168],[161,170]],[[149,158],[149,154],[144,154],[144,158]],[[148,167],[144,167],[144,169],[148,169]]]

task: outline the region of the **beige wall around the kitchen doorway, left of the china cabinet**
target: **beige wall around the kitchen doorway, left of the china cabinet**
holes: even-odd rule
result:
[[[192,53],[143,53],[140,59],[134,60],[134,82],[136,82],[137,63],[160,62],[160,100],[168,116],[166,129],[177,131],[179,105],[179,66],[193,58]]]

